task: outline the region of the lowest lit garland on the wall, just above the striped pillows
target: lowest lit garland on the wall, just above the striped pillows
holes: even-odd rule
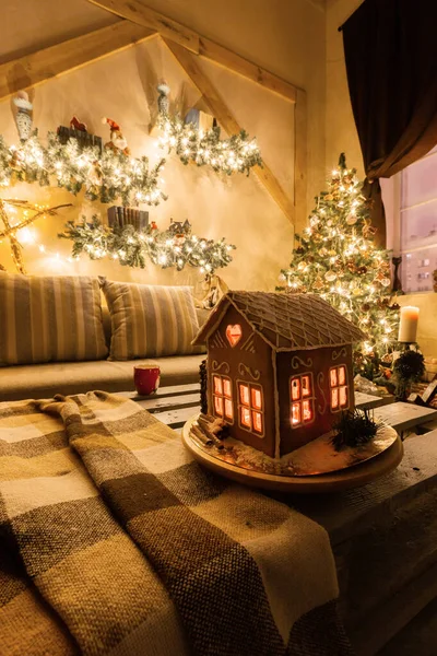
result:
[[[175,267],[181,271],[190,266],[209,274],[232,261],[231,253],[235,246],[226,244],[224,238],[215,242],[198,237],[192,234],[188,221],[178,227],[179,232],[175,232],[174,225],[160,231],[152,223],[139,232],[132,225],[108,227],[93,216],[91,223],[85,219],[80,224],[68,223],[59,237],[73,242],[73,258],[84,253],[91,259],[109,257],[120,265],[142,269],[149,259],[163,269]]]

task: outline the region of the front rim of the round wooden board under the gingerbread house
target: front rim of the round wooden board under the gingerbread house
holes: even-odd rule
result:
[[[274,476],[271,473],[261,473],[220,460],[198,446],[190,436],[190,426],[196,419],[197,415],[192,417],[182,427],[182,443],[193,458],[215,473],[238,481],[244,485],[262,488],[264,490],[296,494],[319,494],[321,492],[351,490],[389,473],[398,467],[403,456],[402,442],[398,436],[398,440],[379,456],[375,456],[370,460],[361,465],[354,465],[342,471],[317,476]]]

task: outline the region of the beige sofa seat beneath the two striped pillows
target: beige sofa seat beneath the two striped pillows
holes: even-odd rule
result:
[[[0,313],[8,314],[8,305],[2,303]],[[208,311],[196,309],[199,326],[208,316]],[[106,345],[111,338],[111,317],[102,303],[102,320]],[[0,316],[1,323],[1,316]],[[81,394],[93,389],[104,391],[134,390],[133,366],[142,362],[153,362],[161,367],[161,387],[199,382],[199,365],[202,353],[167,355],[160,358],[135,358],[126,361],[99,360],[80,362],[46,362],[38,364],[14,364],[0,367],[0,401],[27,398],[50,398],[56,394]]]

